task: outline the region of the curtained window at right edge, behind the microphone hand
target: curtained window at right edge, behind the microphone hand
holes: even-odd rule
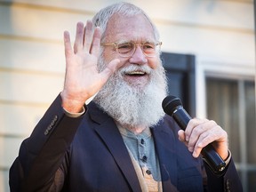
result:
[[[228,132],[229,148],[244,191],[256,188],[255,83],[206,77],[207,116]]]

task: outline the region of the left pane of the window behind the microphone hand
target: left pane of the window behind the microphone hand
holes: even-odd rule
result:
[[[228,132],[229,148],[240,162],[238,84],[237,81],[207,78],[207,116]]]

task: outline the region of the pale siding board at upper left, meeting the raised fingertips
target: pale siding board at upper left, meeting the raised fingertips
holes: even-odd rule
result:
[[[0,6],[0,12],[0,35],[29,36],[60,41],[63,39],[64,30],[69,30],[74,36],[76,22],[92,17],[19,6]]]

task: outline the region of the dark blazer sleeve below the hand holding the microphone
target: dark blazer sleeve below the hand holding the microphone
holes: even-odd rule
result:
[[[207,173],[207,191],[227,191],[227,192],[242,192],[242,184],[234,161],[231,157],[230,162],[223,173],[216,175],[212,172],[208,164],[204,163]]]

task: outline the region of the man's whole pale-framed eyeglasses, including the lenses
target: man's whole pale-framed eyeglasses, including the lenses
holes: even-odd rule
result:
[[[156,54],[160,52],[160,48],[162,45],[162,42],[158,43],[134,43],[134,42],[126,42],[126,43],[105,43],[105,44],[100,44],[102,46],[115,46],[116,52],[121,57],[131,57],[133,53],[136,50],[137,44],[140,45],[142,52],[144,53],[145,56],[147,57],[156,57]]]

